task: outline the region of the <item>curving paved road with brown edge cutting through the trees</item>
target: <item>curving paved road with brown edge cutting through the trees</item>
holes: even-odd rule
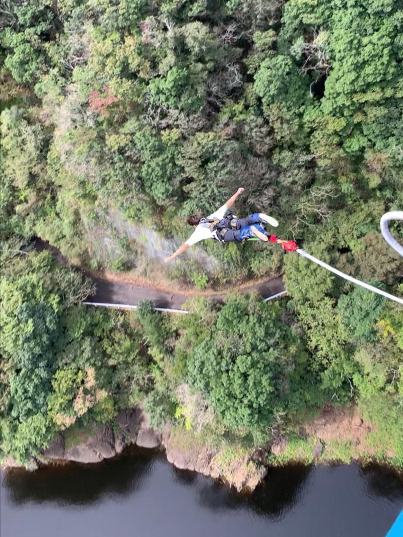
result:
[[[53,253],[59,263],[68,265],[59,250],[49,245],[47,242],[37,238],[33,243],[37,251],[49,250]],[[95,273],[81,269],[88,278],[90,278],[97,287],[95,295],[89,297],[90,302],[102,302],[110,304],[132,304],[136,305],[140,300],[151,300],[156,308],[174,308],[182,309],[183,304],[193,296],[206,296],[215,300],[224,300],[228,292],[240,291],[242,293],[257,292],[263,297],[272,296],[276,293],[285,291],[282,277],[272,278],[269,280],[257,280],[247,282],[235,287],[229,287],[222,291],[199,291],[198,289],[183,287],[169,290],[167,285],[154,284],[143,278],[135,277],[132,274],[121,274],[114,272]]]

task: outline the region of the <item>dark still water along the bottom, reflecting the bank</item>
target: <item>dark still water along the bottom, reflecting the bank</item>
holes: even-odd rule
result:
[[[403,477],[380,466],[272,469],[253,495],[153,451],[2,474],[1,537],[384,537]]]

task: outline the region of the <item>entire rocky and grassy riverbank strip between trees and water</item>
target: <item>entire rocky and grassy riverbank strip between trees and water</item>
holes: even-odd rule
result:
[[[298,433],[277,436],[261,449],[229,446],[214,449],[192,431],[165,424],[162,431],[149,426],[140,408],[121,410],[115,423],[71,427],[25,465],[35,470],[68,462],[93,464],[121,454],[127,447],[164,449],[168,462],[181,470],[219,479],[237,491],[253,491],[268,468],[288,463],[382,462],[393,466],[394,453],[377,451],[374,427],[364,422],[356,407],[326,408],[299,427]],[[11,457],[2,468],[21,467]],[[396,468],[397,469],[397,468]]]

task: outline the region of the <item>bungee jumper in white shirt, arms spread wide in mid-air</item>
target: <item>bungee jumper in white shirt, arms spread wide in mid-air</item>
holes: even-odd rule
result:
[[[238,188],[235,194],[225,202],[222,207],[214,213],[203,217],[201,214],[192,214],[188,218],[188,223],[195,228],[187,241],[172,253],[171,256],[164,258],[164,263],[169,263],[175,257],[181,255],[197,242],[204,241],[207,238],[213,238],[219,242],[242,242],[248,238],[258,238],[263,242],[283,243],[276,235],[270,235],[262,224],[267,223],[270,226],[277,227],[278,222],[275,218],[264,213],[249,214],[246,218],[238,218],[230,211],[236,199],[242,194],[244,188]]]

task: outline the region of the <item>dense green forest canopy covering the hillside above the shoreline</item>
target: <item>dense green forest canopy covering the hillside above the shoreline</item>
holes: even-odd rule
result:
[[[2,452],[26,460],[136,404],[157,428],[261,446],[355,402],[402,465],[398,304],[258,243],[161,263],[186,215],[244,186],[238,214],[271,214],[280,237],[403,295],[379,234],[403,209],[400,0],[1,6]],[[148,302],[92,311],[90,282],[35,237],[77,266],[200,289],[284,274],[289,297],[200,301],[180,320]]]

